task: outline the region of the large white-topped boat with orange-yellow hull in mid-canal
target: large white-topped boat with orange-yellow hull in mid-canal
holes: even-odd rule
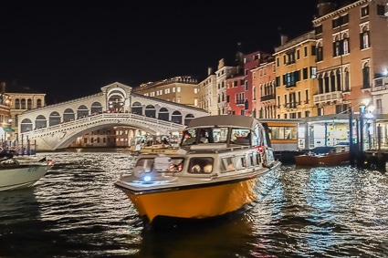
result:
[[[257,200],[268,174],[279,172],[267,140],[266,129],[250,117],[192,119],[179,150],[141,153],[131,174],[115,185],[146,222],[236,212]]]

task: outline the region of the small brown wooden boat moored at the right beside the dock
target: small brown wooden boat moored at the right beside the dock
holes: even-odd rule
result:
[[[317,147],[308,153],[295,156],[299,166],[336,166],[351,160],[349,150],[344,147]]]

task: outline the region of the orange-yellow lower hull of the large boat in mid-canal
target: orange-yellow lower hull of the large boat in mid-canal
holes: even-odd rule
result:
[[[235,212],[257,200],[259,178],[222,184],[202,184],[191,188],[151,193],[125,191],[141,216],[150,222],[156,216],[204,219]]]

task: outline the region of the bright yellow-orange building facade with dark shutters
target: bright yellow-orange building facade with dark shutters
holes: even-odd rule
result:
[[[312,103],[316,92],[315,34],[310,31],[288,40],[282,36],[275,47],[277,118],[301,119],[317,116]]]

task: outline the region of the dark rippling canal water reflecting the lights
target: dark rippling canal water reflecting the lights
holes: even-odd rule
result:
[[[156,231],[114,187],[128,152],[44,156],[35,187],[0,192],[0,257],[388,257],[383,171],[283,165],[250,211]]]

